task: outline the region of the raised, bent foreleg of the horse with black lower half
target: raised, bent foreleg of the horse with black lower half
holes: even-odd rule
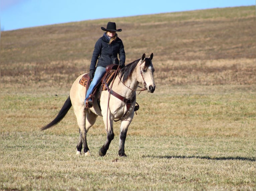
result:
[[[114,139],[114,136],[115,136],[114,132],[113,132],[113,119],[112,120],[110,120],[110,119],[104,120],[104,123],[105,123],[105,127],[106,127],[106,130],[107,130],[107,141],[105,142],[105,144],[99,150],[99,155],[100,156],[105,156],[106,155],[107,150],[109,149],[109,145],[110,145],[111,141]]]

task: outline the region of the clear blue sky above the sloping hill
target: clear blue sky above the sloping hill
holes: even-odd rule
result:
[[[255,5],[255,0],[1,0],[4,31],[74,21]]]

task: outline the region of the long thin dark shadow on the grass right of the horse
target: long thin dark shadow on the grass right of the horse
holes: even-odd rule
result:
[[[241,157],[241,156],[223,156],[223,157],[211,157],[211,156],[181,156],[181,155],[165,155],[165,156],[150,156],[150,155],[143,155],[142,158],[199,158],[199,159],[208,159],[208,160],[248,160],[248,161],[255,161],[255,157]]]

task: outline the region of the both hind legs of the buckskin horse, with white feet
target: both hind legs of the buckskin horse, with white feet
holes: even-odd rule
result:
[[[84,109],[81,112],[76,112],[77,122],[79,126],[80,139],[77,144],[77,154],[81,154],[82,145],[84,145],[85,155],[91,155],[88,144],[87,144],[87,132],[89,128],[95,123],[97,115],[94,113],[89,113]]]

